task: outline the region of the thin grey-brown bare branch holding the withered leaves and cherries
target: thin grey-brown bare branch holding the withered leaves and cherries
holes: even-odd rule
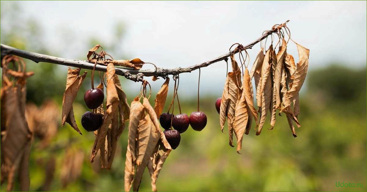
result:
[[[288,21],[287,21],[288,22]],[[286,23],[287,23],[286,22]],[[272,33],[275,33],[280,30],[281,27],[285,26],[286,23],[283,23],[281,25],[278,25],[278,27],[274,27],[272,30],[265,31],[264,34],[259,37],[254,42],[246,45],[241,46],[239,49],[235,49],[232,52],[228,52],[222,56],[219,56],[215,59],[211,59],[207,62],[196,64],[193,66],[185,67],[185,68],[174,68],[174,69],[164,69],[164,68],[157,68],[155,70],[134,70],[134,69],[128,69],[128,68],[119,68],[115,67],[116,74],[126,77],[127,79],[130,79],[132,81],[141,81],[143,76],[156,76],[156,77],[163,77],[165,78],[167,75],[176,75],[180,73],[190,73],[193,70],[199,69],[201,67],[207,67],[212,63],[219,62],[221,60],[225,60],[230,55],[238,53],[240,50],[243,51],[245,49],[251,49],[255,44],[259,43],[261,40],[265,39]],[[86,60],[77,60],[77,59],[64,59],[59,57],[54,57],[50,55],[43,55],[40,53],[34,53],[34,52],[28,52],[21,49],[17,49],[8,45],[0,44],[0,50],[1,50],[1,58],[7,54],[16,55],[25,59],[30,59],[36,63],[38,62],[46,62],[46,63],[54,63],[54,64],[61,64],[65,66],[71,66],[71,67],[79,67],[83,69],[93,69],[94,64],[88,63]],[[103,65],[97,64],[95,67],[95,70],[97,71],[106,71],[107,67]]]

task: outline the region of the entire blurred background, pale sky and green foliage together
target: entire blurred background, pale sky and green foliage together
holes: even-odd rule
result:
[[[1,43],[70,59],[86,59],[88,50],[100,44],[115,59],[138,57],[159,67],[186,67],[228,52],[233,43],[248,44],[288,19],[292,38],[310,49],[298,137],[293,138],[286,118],[277,116],[275,129],[245,135],[237,154],[228,145],[228,134],[220,131],[214,106],[226,64],[214,63],[201,70],[200,109],[208,124],[201,132],[189,128],[181,135],[157,188],[366,191],[366,1],[1,1]],[[249,50],[250,66],[259,49],[257,44]],[[298,60],[294,44],[287,52]],[[28,80],[29,108],[51,108],[55,115],[53,129],[46,126],[47,134],[40,133],[32,144],[30,190],[123,191],[127,131],[111,170],[89,162],[95,136],[80,119],[87,111],[83,95],[90,89],[90,70],[73,104],[80,136],[69,125],[61,127],[67,67],[26,62],[27,70],[34,71]],[[178,93],[186,114],[196,110],[197,78],[198,71],[180,75]],[[120,80],[130,103],[140,83]],[[150,82],[154,98],[163,80]],[[171,81],[167,103],[172,86]],[[336,187],[338,181],[363,187]],[[19,190],[18,184],[14,189]],[[147,170],[140,189],[150,191]]]

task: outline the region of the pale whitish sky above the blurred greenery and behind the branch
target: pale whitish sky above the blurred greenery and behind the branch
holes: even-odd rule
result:
[[[251,43],[264,30],[290,20],[287,26],[292,39],[310,49],[309,70],[333,62],[366,66],[366,1],[19,3],[23,15],[35,18],[43,27],[47,46],[63,58],[84,59],[80,55],[89,49],[90,37],[97,37],[102,46],[115,42],[112,29],[116,22],[123,22],[126,31],[118,43],[121,53],[130,58],[118,59],[140,58],[164,68],[187,67],[227,53],[233,43]],[[259,49],[257,44],[249,50],[250,67]],[[289,44],[287,52],[298,60],[295,44]],[[225,77],[224,61],[203,68],[200,92],[221,96]],[[181,74],[179,93],[195,96],[197,78],[197,70]],[[153,82],[153,89],[162,83]],[[135,84],[126,86],[138,90],[140,86]]]

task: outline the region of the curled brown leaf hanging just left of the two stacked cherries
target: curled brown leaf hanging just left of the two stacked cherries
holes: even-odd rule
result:
[[[73,111],[73,101],[79,91],[79,88],[87,75],[84,71],[83,75],[79,75],[80,69],[68,68],[68,77],[66,78],[66,89],[62,96],[62,113],[61,123],[62,126],[65,122],[69,123],[79,134],[81,134],[78,126],[76,125]]]

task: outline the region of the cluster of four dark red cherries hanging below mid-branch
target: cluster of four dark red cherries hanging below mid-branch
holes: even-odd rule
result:
[[[181,141],[180,133],[185,132],[189,128],[189,125],[196,131],[203,130],[207,123],[207,117],[201,111],[192,112],[190,117],[185,113],[178,115],[163,113],[159,117],[159,122],[165,129],[163,133],[168,143],[172,149],[175,149]],[[171,129],[171,127],[174,129]]]

